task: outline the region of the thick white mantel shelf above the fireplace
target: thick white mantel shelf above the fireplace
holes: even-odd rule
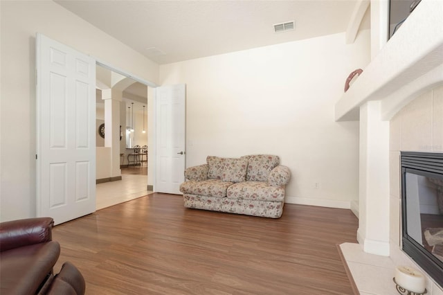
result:
[[[381,100],[389,120],[443,82],[443,1],[423,0],[335,105],[336,121],[359,120],[361,105]]]

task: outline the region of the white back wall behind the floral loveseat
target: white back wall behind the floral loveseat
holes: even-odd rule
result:
[[[161,65],[161,84],[186,83],[186,166],[277,154],[292,172],[287,202],[350,208],[359,125],[336,123],[334,105],[369,63],[369,42],[363,31],[345,45],[341,33]]]

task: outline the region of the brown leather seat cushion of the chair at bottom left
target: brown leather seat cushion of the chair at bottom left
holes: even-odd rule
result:
[[[60,244],[54,241],[2,251],[0,294],[37,294],[59,256]]]

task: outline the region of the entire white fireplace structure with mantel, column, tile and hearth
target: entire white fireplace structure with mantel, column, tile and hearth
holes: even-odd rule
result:
[[[443,152],[443,1],[422,0],[338,100],[336,120],[360,121],[359,244],[341,251],[360,294],[398,294],[395,267],[419,269],[401,251],[400,151]],[[427,294],[442,288],[427,277]]]

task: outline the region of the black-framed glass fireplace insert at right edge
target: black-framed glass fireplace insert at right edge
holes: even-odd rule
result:
[[[443,154],[400,157],[403,250],[443,286]]]

